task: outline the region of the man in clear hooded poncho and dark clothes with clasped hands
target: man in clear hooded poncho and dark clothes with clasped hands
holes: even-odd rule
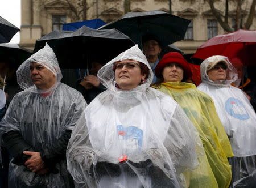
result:
[[[65,151],[86,107],[84,98],[60,83],[57,58],[47,44],[20,65],[17,77],[24,91],[0,123],[3,144],[13,156],[9,187],[73,187]]]

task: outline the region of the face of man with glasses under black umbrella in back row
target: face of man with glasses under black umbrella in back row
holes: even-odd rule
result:
[[[143,53],[146,57],[157,57],[157,55],[161,52],[161,48],[155,40],[148,40],[143,43]]]

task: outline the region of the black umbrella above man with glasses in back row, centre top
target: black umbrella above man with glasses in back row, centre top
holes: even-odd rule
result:
[[[118,29],[142,48],[147,33],[157,36],[162,46],[183,40],[190,22],[164,11],[129,12],[98,29]]]

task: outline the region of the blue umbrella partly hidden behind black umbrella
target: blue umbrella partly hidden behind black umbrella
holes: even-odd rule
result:
[[[92,20],[86,20],[83,22],[65,23],[65,24],[63,24],[62,30],[74,31],[76,29],[79,29],[83,25],[85,25],[86,27],[89,27],[89,28],[98,29],[99,27],[101,27],[102,25],[105,25],[105,24],[106,24],[106,22],[104,22],[100,18],[97,18],[97,19],[92,19]]]

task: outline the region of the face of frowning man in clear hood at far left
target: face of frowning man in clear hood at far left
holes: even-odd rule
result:
[[[39,89],[49,89],[56,82],[56,76],[49,69],[36,62],[30,63],[30,76],[32,82]]]

